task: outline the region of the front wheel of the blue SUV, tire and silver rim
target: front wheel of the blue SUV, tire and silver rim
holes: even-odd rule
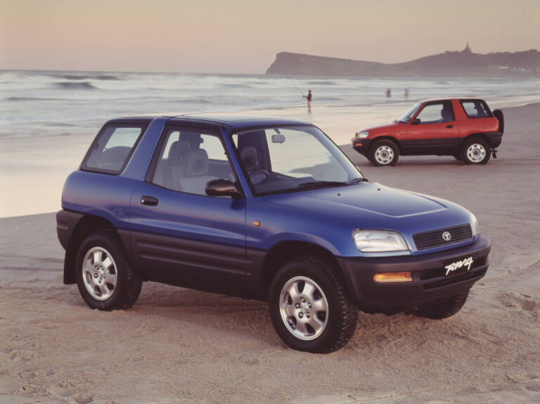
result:
[[[313,353],[345,346],[358,319],[335,267],[311,255],[290,260],[278,270],[270,286],[269,310],[285,344]]]

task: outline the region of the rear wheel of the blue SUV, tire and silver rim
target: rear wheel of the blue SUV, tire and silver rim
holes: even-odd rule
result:
[[[129,267],[115,233],[91,234],[79,247],[76,263],[79,293],[91,308],[130,308],[139,298],[141,278]]]

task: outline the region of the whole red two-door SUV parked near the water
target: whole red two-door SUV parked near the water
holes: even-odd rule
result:
[[[501,144],[501,110],[491,112],[481,99],[439,99],[416,103],[390,125],[356,132],[354,150],[376,166],[394,165],[399,155],[454,156],[485,164]]]

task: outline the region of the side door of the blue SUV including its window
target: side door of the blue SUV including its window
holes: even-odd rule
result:
[[[207,196],[219,178],[235,178],[219,134],[165,127],[130,203],[131,248],[150,279],[243,288],[245,198]]]

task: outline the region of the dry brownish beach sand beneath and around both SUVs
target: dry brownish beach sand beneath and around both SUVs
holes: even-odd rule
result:
[[[401,158],[371,180],[461,203],[491,266],[446,320],[359,313],[337,353],[292,351],[266,303],[152,282],[131,310],[62,283],[53,213],[0,219],[0,403],[537,403],[540,104],[506,108],[499,158]]]

